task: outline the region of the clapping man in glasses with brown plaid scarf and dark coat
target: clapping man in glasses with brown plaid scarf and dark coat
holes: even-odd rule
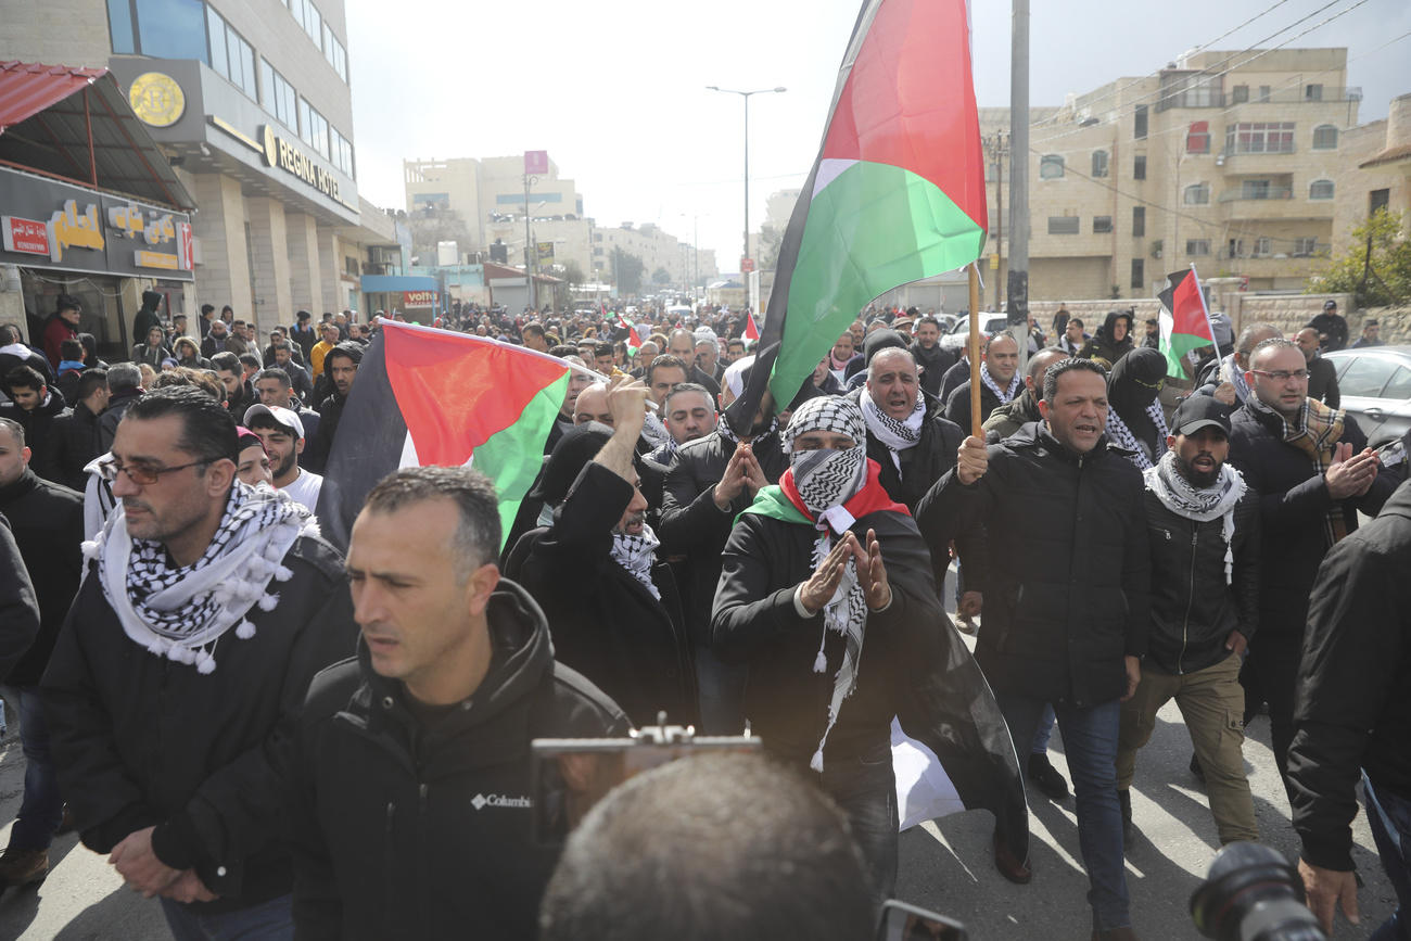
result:
[[[1268,703],[1274,759],[1287,772],[1308,593],[1328,550],[1376,516],[1398,480],[1379,473],[1356,419],[1308,395],[1308,361],[1281,339],[1249,357],[1249,398],[1230,416],[1230,464],[1260,495],[1259,633],[1240,672],[1245,720]],[[1287,776],[1285,776],[1287,786]]]

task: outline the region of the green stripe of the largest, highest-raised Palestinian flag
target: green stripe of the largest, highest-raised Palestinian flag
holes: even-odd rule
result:
[[[809,205],[769,388],[783,408],[848,324],[893,288],[979,257],[985,231],[935,183],[858,161]]]

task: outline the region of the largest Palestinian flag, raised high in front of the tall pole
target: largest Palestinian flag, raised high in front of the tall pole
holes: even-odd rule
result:
[[[985,245],[968,14],[967,0],[862,4],[761,337],[780,344],[769,378],[780,406],[872,299],[962,268]],[[762,389],[749,394],[746,426]]]

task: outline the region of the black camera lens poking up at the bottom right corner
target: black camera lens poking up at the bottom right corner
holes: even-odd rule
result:
[[[1215,854],[1191,917],[1216,941],[1326,941],[1304,904],[1298,870],[1278,851],[1233,842]]]

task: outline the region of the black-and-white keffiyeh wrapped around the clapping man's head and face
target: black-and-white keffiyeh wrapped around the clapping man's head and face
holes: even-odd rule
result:
[[[864,396],[866,398],[866,396]],[[847,435],[855,444],[847,450],[818,449],[794,451],[794,439],[804,432],[827,430]],[[823,560],[832,552],[834,536],[841,536],[856,521],[844,504],[862,490],[868,474],[868,432],[862,409],[856,402],[841,396],[809,399],[789,420],[785,430],[785,449],[789,451],[789,466],[794,487],[809,514],[814,518],[818,539],[813,545],[813,569],[817,571]],[[858,662],[862,656],[862,641],[868,626],[868,601],[862,583],[858,580],[856,561],[848,564],[838,581],[832,598],[823,607],[823,632],[818,638],[818,653],[814,656],[814,673],[824,673],[828,660],[824,645],[828,632],[841,633],[844,639],[842,664],[832,679],[832,697],[828,701],[828,724],[818,741],[809,766],[823,772],[823,748],[828,734],[838,722],[842,701],[852,696],[858,686]]]

